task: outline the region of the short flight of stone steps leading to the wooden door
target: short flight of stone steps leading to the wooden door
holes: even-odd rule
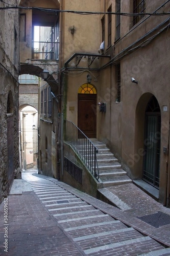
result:
[[[91,139],[91,141],[99,150],[97,153],[99,182],[103,184],[103,187],[131,183],[132,180],[127,176],[121,163],[114,157],[109,148],[97,139]]]

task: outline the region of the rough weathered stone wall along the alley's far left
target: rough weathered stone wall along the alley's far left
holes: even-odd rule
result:
[[[11,5],[16,5],[11,0]],[[0,2],[0,7],[6,7]],[[18,147],[19,14],[1,10],[0,26],[0,203],[8,196],[12,180],[20,178]],[[10,36],[9,36],[10,35]],[[7,120],[12,119],[12,136]],[[9,134],[11,140],[9,140]],[[9,145],[9,141],[12,143]],[[9,148],[12,147],[13,154]],[[10,165],[9,165],[10,163]],[[12,172],[9,172],[9,167]]]

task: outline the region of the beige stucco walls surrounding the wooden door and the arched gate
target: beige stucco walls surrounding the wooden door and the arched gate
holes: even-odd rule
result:
[[[100,3],[99,3],[100,2]],[[116,12],[115,1],[62,1],[62,8],[78,11],[107,12],[111,7]],[[90,9],[89,9],[90,6]],[[145,12],[167,12],[168,4],[161,1],[145,1]],[[132,13],[132,1],[121,3],[121,12]],[[105,16],[105,49],[99,51],[102,43],[101,19]],[[161,132],[159,201],[166,204],[169,193],[167,180],[169,146],[169,30],[167,16],[145,15],[133,25],[133,17],[121,16],[120,38],[116,38],[115,15],[111,19],[111,45],[108,47],[108,15],[60,15],[62,27],[62,67],[65,62],[65,118],[78,124],[78,90],[86,83],[86,76],[92,77],[91,84],[97,91],[97,102],[106,103],[106,113],[96,112],[96,137],[106,143],[122,163],[132,180],[142,179],[145,155],[145,110],[152,96],[160,107]],[[74,28],[74,33],[71,29]],[[74,53],[103,54],[111,57],[95,59],[88,67],[87,56],[76,65]],[[116,65],[121,70],[121,100],[116,102]],[[138,84],[132,83],[134,77]],[[146,143],[145,143],[146,144]],[[169,177],[169,176],[168,176]],[[169,196],[169,195],[168,195]]]

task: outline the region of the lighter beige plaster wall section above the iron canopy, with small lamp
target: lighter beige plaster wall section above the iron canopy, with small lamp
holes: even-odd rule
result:
[[[98,0],[65,0],[63,10],[100,11]],[[98,53],[101,42],[99,15],[60,14],[62,66],[75,52]],[[74,27],[74,34],[71,28]]]

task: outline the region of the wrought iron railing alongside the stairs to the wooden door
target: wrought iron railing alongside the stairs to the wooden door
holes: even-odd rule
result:
[[[65,142],[79,154],[96,180],[99,179],[99,168],[94,143],[71,121],[65,120]]]

